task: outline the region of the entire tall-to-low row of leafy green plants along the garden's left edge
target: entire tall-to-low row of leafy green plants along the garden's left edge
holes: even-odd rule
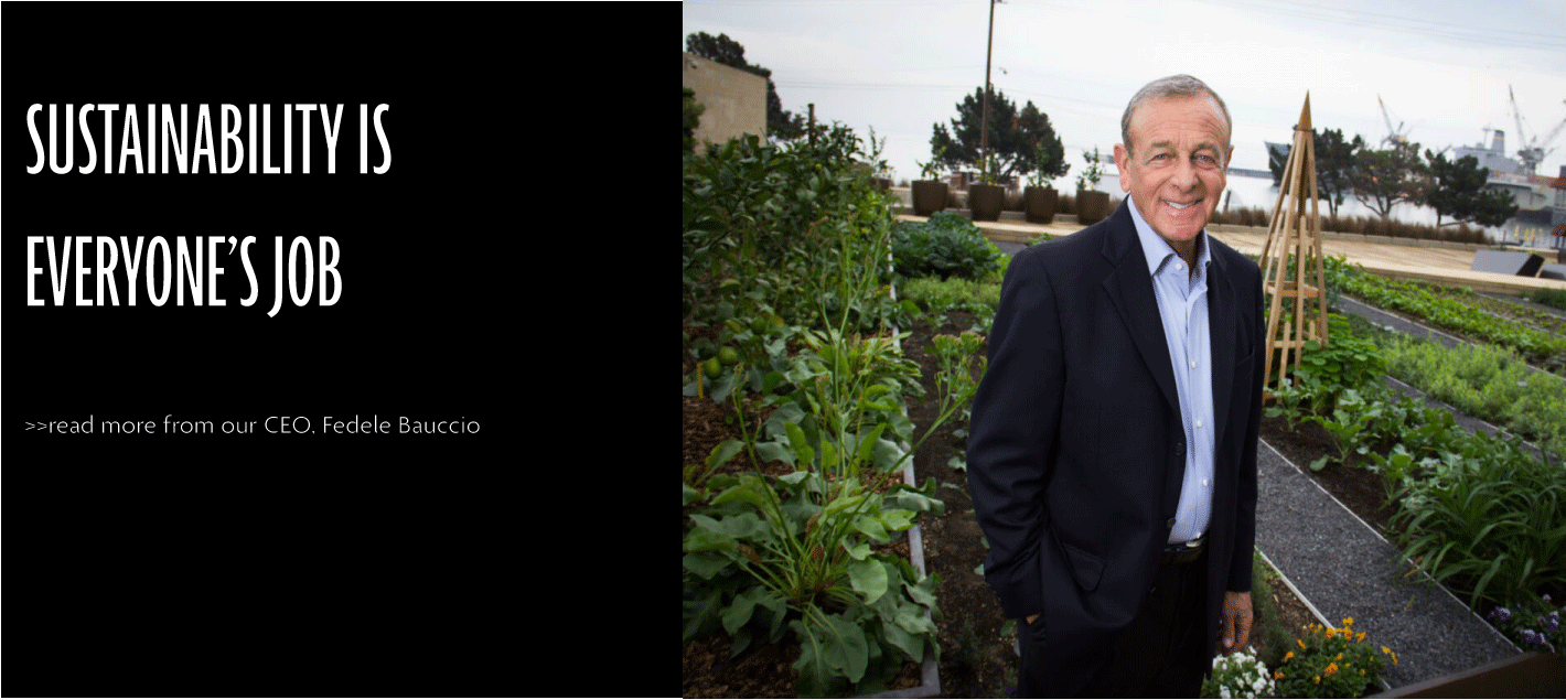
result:
[[[918,305],[886,285],[893,218],[872,147],[864,163],[835,125],[683,161],[681,312],[700,362],[686,393],[730,402],[741,434],[683,470],[683,634],[725,630],[734,655],[789,639],[800,695],[877,692],[905,661],[940,653],[927,619],[938,578],[885,547],[944,506],[933,479],[900,484],[905,398],[922,385],[897,349],[907,334],[888,326]],[[741,454],[794,470],[725,473]]]

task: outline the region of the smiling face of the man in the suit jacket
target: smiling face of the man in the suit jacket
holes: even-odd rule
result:
[[[1206,96],[1143,102],[1131,113],[1131,146],[1115,144],[1120,189],[1153,230],[1179,249],[1218,208],[1229,155],[1223,113]]]

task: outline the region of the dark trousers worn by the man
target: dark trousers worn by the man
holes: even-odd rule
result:
[[[1142,611],[1112,636],[1102,666],[1073,697],[1196,697],[1212,666],[1212,650],[1203,650],[1206,589],[1206,553],[1189,564],[1159,567]],[[1049,636],[1048,620],[1038,623],[1043,625],[1040,631],[1030,630],[1026,620],[1016,623],[1023,651],[1016,697],[1063,697],[1055,683],[1032,670],[1037,669],[1032,661],[1041,653],[1034,634]]]

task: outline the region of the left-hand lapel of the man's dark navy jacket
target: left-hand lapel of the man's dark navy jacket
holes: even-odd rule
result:
[[[1164,391],[1164,401],[1179,415],[1179,395],[1174,390],[1174,368],[1170,360],[1168,341],[1164,338],[1164,318],[1159,315],[1157,298],[1153,296],[1153,277],[1148,274],[1148,258],[1137,241],[1131,210],[1124,204],[1115,210],[1104,236],[1104,257],[1112,269],[1104,277],[1120,319],[1126,324],[1137,352],[1146,363],[1153,379]]]

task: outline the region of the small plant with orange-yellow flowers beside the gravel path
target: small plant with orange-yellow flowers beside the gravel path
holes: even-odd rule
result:
[[[1295,648],[1273,673],[1279,697],[1361,697],[1367,686],[1380,684],[1386,669],[1383,655],[1397,664],[1397,653],[1381,647],[1381,655],[1364,644],[1366,633],[1353,630],[1345,617],[1342,628],[1311,625]]]

